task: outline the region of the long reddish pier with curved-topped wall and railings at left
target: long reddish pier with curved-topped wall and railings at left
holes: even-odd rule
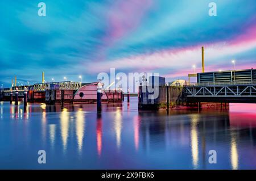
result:
[[[43,74],[44,76],[44,74]],[[16,77],[15,77],[16,79]],[[16,82],[16,81],[15,81]],[[46,104],[73,104],[73,103],[96,103],[98,82],[44,82],[30,86],[12,86],[1,89],[0,100],[24,101],[24,92],[27,102]],[[15,93],[17,94],[15,95]],[[122,102],[122,90],[102,89],[102,103]]]

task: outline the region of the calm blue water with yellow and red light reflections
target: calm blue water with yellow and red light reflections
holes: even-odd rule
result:
[[[0,102],[0,169],[256,169],[256,106],[138,112],[127,105]],[[38,150],[47,163],[38,163]],[[208,151],[217,151],[217,164]]]

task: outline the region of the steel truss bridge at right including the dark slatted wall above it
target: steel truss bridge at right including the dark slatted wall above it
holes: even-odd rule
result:
[[[187,102],[256,103],[256,69],[197,73],[183,92]]]

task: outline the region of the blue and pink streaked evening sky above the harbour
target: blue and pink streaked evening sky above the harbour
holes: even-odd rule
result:
[[[46,16],[38,3],[46,3]],[[210,2],[217,16],[209,16]],[[1,0],[0,85],[97,81],[101,72],[159,73],[166,82],[201,71],[256,68],[255,0]]]

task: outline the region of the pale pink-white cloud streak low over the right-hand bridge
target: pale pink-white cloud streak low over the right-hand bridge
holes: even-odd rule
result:
[[[256,26],[248,28],[242,35],[230,41],[223,41],[214,44],[204,44],[205,47],[205,71],[216,71],[219,69],[230,70],[225,67],[227,62],[226,56],[233,57],[235,54],[246,52],[256,48],[256,35],[254,32]],[[118,34],[119,35],[119,34]],[[235,58],[235,57],[234,57]],[[222,61],[221,61],[222,60]],[[214,66],[207,65],[208,62],[217,61]],[[242,62],[242,60],[240,60]],[[140,54],[113,61],[97,62],[97,72],[109,71],[115,69],[134,69],[147,71],[161,68],[170,68],[179,70],[177,73],[167,74],[167,77],[184,77],[192,71],[192,65],[201,66],[201,46],[185,47],[177,49],[166,49],[150,54]],[[89,67],[92,65],[88,65]],[[95,67],[95,64],[93,65]],[[237,69],[255,68],[255,64],[238,65]],[[90,70],[94,70],[93,68]],[[200,71],[200,70],[199,70]],[[183,76],[182,76],[183,75]]]

